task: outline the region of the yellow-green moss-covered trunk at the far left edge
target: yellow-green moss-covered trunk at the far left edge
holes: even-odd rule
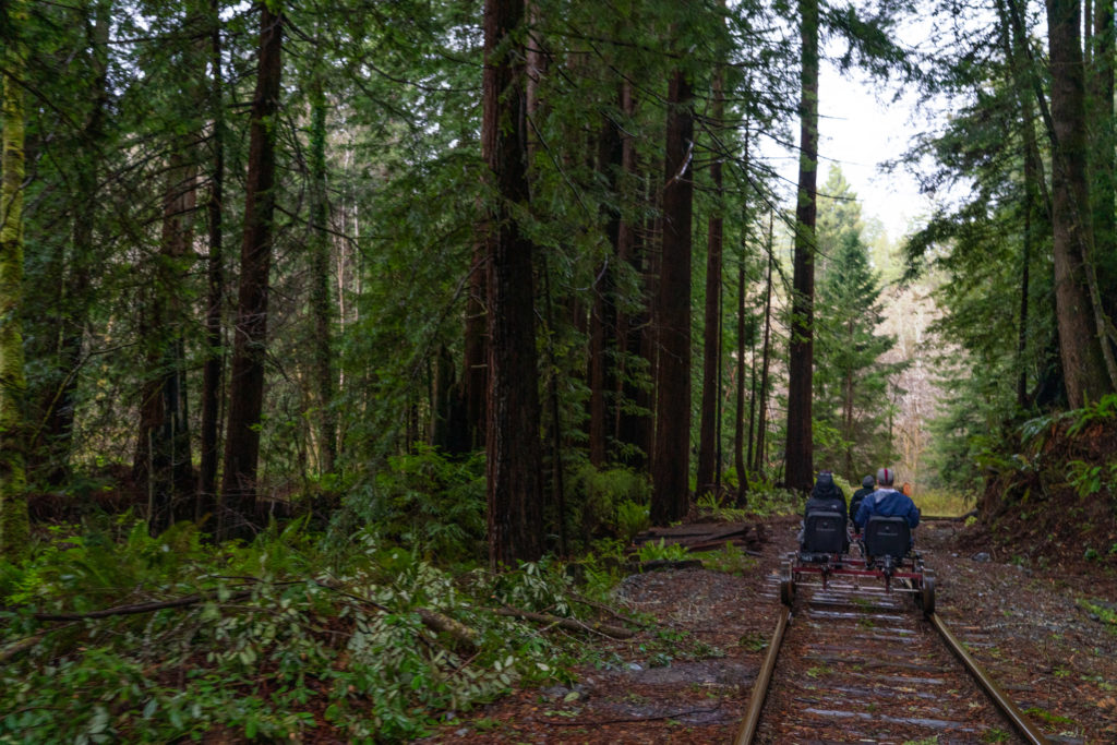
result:
[[[7,9],[15,32],[4,39],[0,101],[0,556],[15,560],[27,547],[27,422],[21,323],[23,285],[23,30],[27,3]]]

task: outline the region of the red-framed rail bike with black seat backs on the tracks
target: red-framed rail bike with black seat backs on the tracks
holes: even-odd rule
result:
[[[935,612],[935,573],[911,551],[911,528],[903,517],[873,515],[851,537],[840,513],[809,513],[799,551],[782,563],[780,600],[790,608],[796,584],[813,581],[825,589],[839,576],[881,581],[886,592],[911,593],[924,615]]]

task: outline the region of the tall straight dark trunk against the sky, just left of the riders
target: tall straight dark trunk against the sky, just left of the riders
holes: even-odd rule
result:
[[[809,491],[813,484],[811,393],[814,365],[814,221],[819,159],[819,3],[800,0],[799,201],[792,275],[791,348],[787,361],[787,439],[784,481]]]

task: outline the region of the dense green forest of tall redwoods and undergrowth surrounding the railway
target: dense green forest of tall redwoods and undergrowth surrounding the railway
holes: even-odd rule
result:
[[[639,531],[822,468],[1111,506],[1113,17],[6,2],[0,732],[413,735],[561,675],[523,613],[591,613]],[[946,102],[903,240],[820,65]]]

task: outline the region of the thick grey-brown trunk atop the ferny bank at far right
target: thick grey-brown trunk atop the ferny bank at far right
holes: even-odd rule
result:
[[[1111,390],[1102,359],[1104,340],[1090,331],[1089,323],[1097,325],[1101,319],[1087,289],[1092,228],[1088,219],[1080,20],[1078,0],[1048,0],[1056,312],[1067,399],[1072,408],[1097,401]]]

